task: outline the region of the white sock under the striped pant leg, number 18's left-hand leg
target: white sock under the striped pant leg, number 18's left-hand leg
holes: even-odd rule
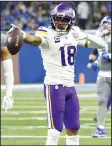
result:
[[[57,145],[60,132],[56,129],[49,129],[47,135],[46,145]]]

